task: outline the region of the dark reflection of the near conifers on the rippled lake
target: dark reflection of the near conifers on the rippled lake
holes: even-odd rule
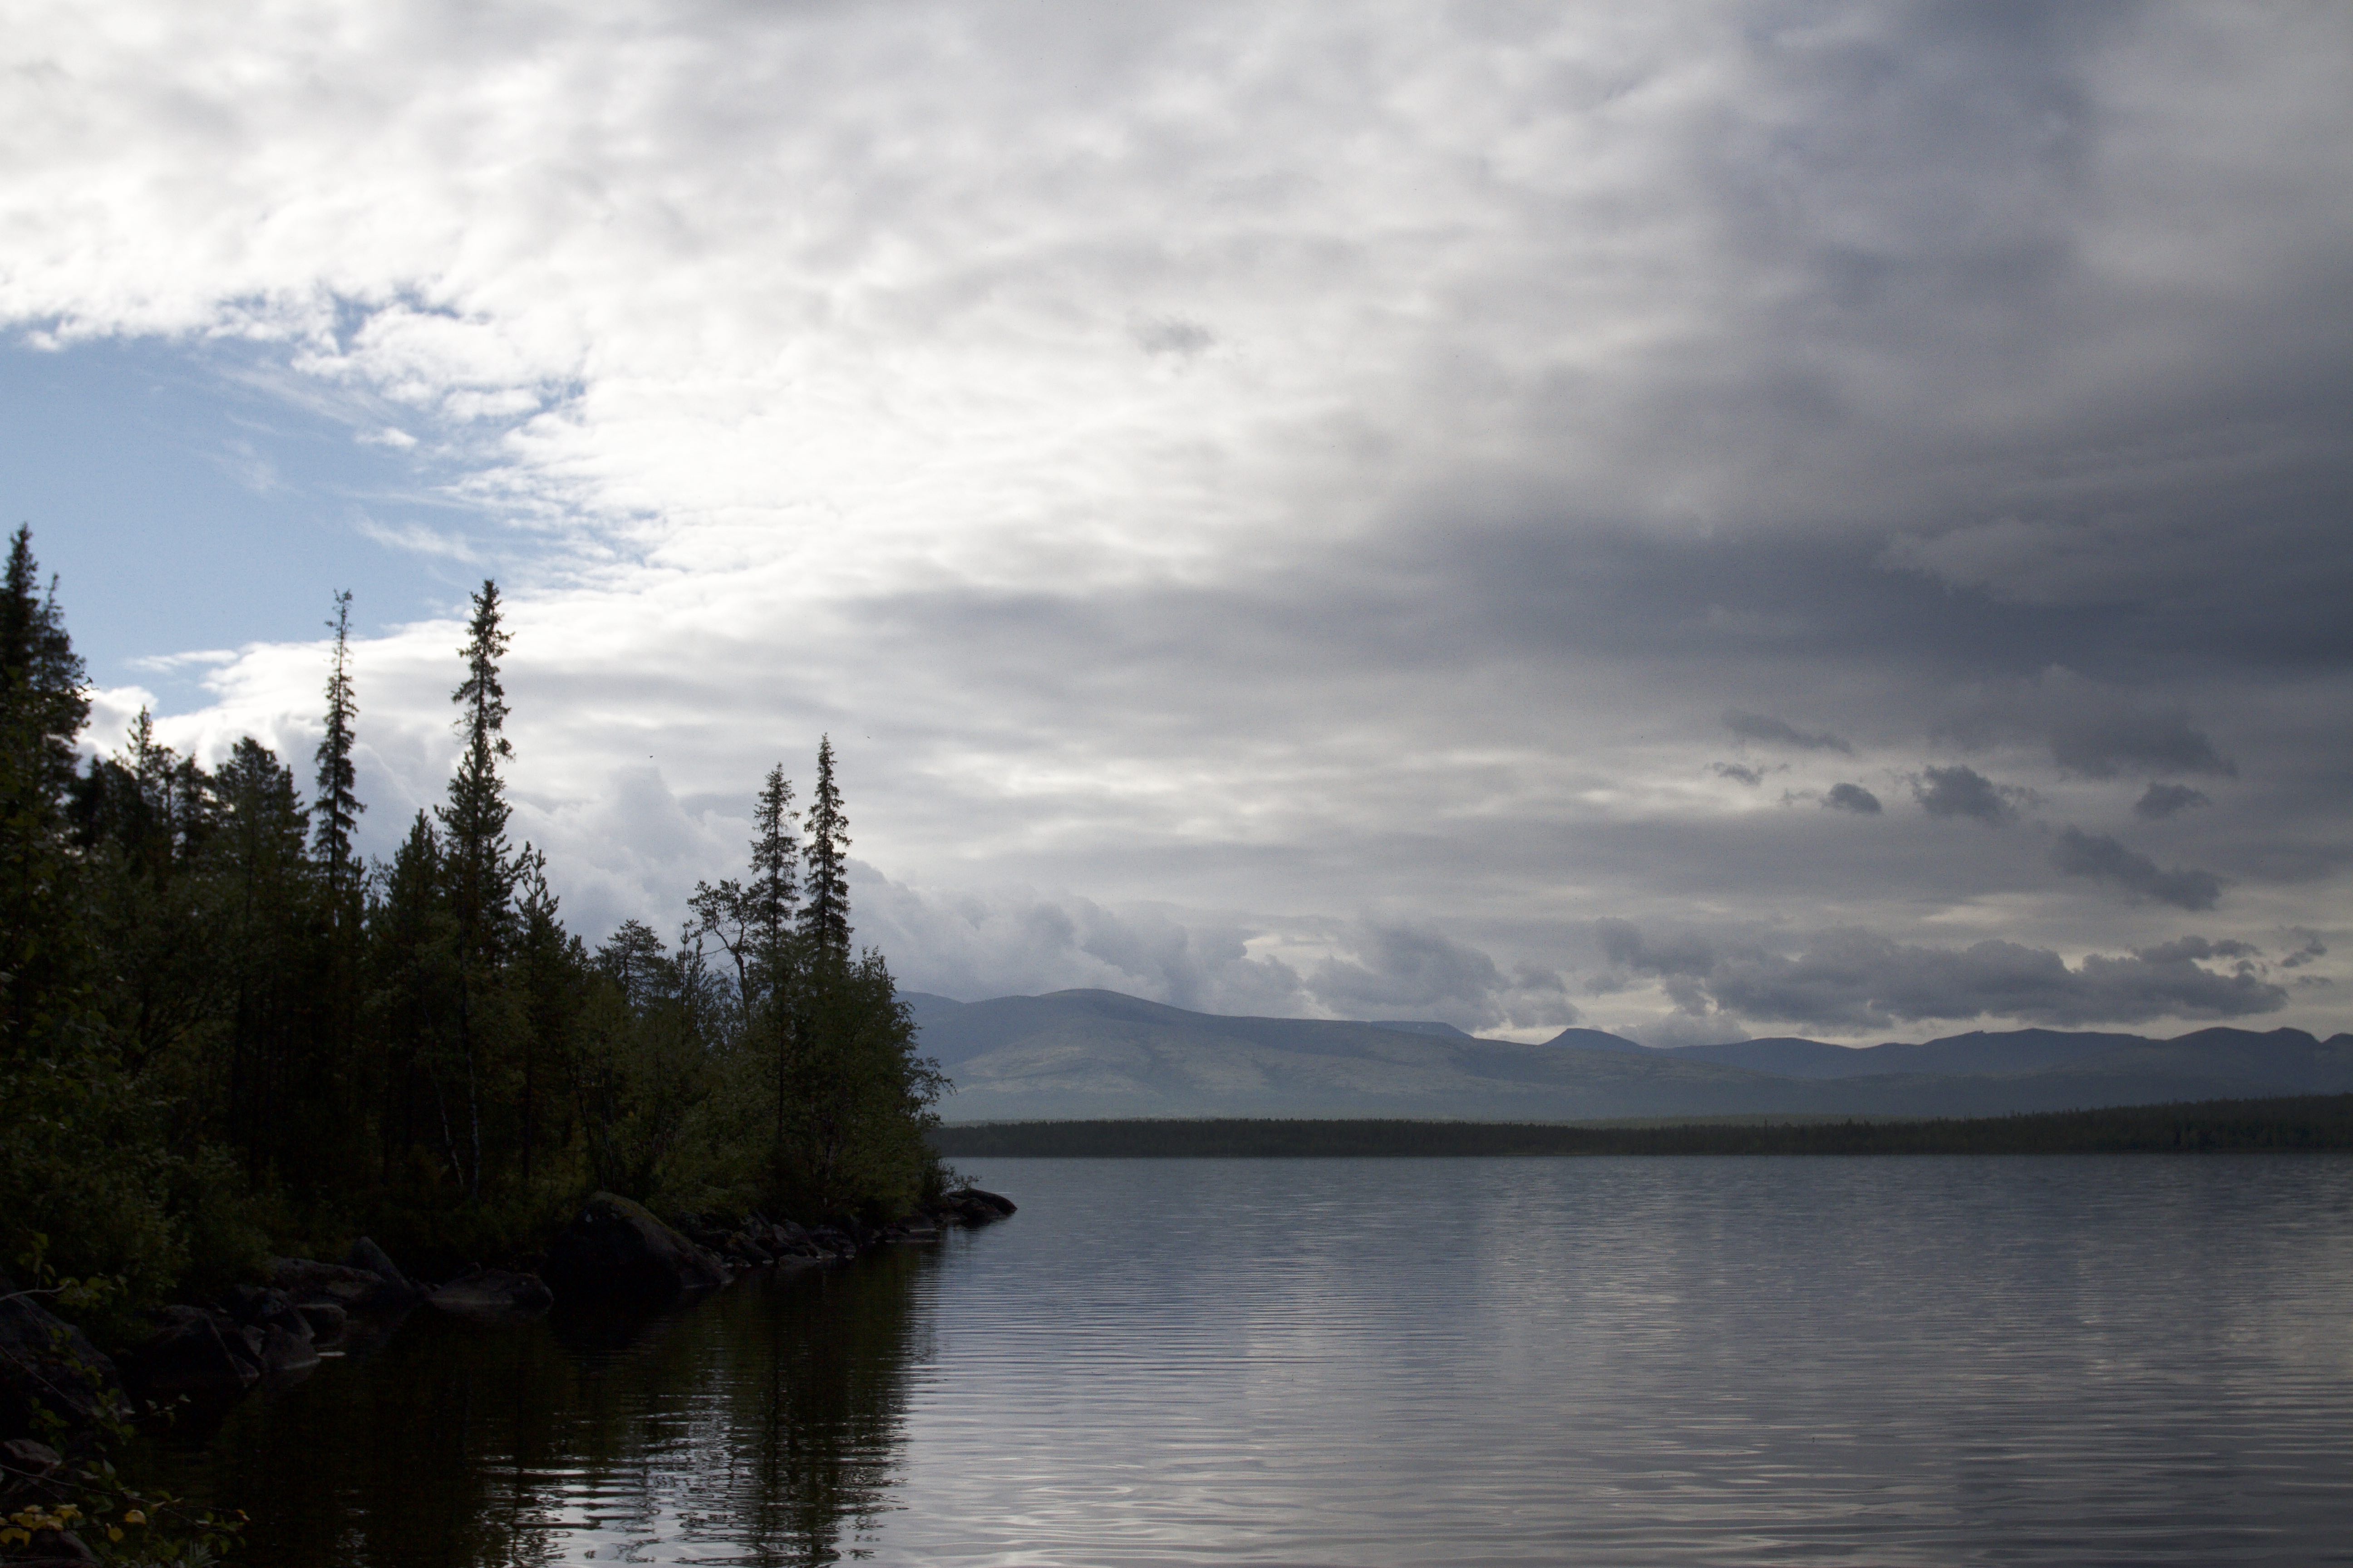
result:
[[[887,1507],[932,1251],[748,1276],[671,1314],[412,1314],[162,1455],[249,1563],[828,1563]]]

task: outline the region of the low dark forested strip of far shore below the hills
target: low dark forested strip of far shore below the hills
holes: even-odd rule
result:
[[[2191,1154],[2353,1150],[2353,1095],[2195,1100],[1937,1121],[995,1121],[939,1126],[951,1159],[1447,1154]]]

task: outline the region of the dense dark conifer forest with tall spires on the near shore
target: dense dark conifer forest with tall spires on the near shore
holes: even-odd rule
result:
[[[146,715],[113,757],[19,529],[0,590],[0,1267],[115,1309],[369,1232],[426,1272],[525,1255],[588,1190],[671,1215],[887,1218],[936,1187],[936,1067],[852,947],[831,741],[675,940],[591,950],[515,844],[496,583],[454,665],[447,799],[355,849],[360,693],[334,599],[308,804]],[[87,1298],[87,1293],[85,1293]]]

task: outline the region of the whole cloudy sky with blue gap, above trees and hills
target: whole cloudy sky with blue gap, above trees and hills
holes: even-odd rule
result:
[[[365,827],[904,985],[1652,1044],[2353,1025],[2353,9],[40,5],[9,522]]]

